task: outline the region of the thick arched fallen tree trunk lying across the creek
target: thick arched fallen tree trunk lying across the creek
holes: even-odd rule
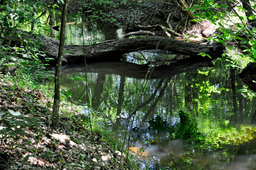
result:
[[[23,38],[29,37],[32,41],[35,41],[31,35],[27,32],[23,32]],[[50,58],[57,58],[59,41],[54,40],[45,35],[41,35],[39,38],[41,41],[40,50],[45,52]],[[165,49],[168,51],[176,52],[183,55],[197,56],[199,53],[204,52],[210,55],[212,58],[218,58],[223,53],[224,47],[221,44],[204,45],[196,43],[187,43],[184,41],[172,40],[169,37],[137,37],[120,40],[108,40],[106,43],[99,43],[91,46],[85,46],[85,57],[88,61],[102,61],[113,60],[120,58],[121,55],[128,52],[136,52],[140,50],[156,49],[159,43],[158,49]],[[64,46],[63,61],[67,63],[83,62],[83,46]],[[202,57],[202,56],[201,56]]]

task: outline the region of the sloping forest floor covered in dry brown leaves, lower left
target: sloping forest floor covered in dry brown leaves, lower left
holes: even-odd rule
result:
[[[100,125],[91,132],[81,108],[62,104],[58,130],[50,127],[51,108],[52,98],[40,89],[20,88],[0,75],[1,170],[115,170],[126,164],[113,133]]]

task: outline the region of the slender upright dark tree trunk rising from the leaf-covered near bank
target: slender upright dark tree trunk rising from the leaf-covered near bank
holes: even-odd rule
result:
[[[55,68],[55,87],[54,87],[54,101],[53,101],[53,111],[52,111],[52,128],[58,129],[59,127],[59,107],[60,107],[60,77],[61,77],[61,62],[64,52],[65,43],[65,28],[66,28],[66,16],[67,16],[68,0],[64,0],[64,6],[61,16],[61,32],[60,32],[60,43],[58,58]]]

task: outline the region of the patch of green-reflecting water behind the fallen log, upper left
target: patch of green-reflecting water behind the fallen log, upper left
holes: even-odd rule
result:
[[[46,16],[49,14],[47,13]],[[76,15],[75,14],[68,14],[67,16],[67,23],[66,23],[66,29],[65,29],[65,43],[68,45],[82,45],[83,44],[83,38],[81,35],[81,20],[76,21]],[[41,18],[41,23],[46,23],[47,17]],[[55,16],[55,26],[61,25],[61,14],[56,14]],[[48,36],[52,37],[55,40],[59,40],[60,31],[56,31],[52,29],[52,26],[39,26],[36,25],[35,31],[39,31]],[[23,29],[24,31],[30,32],[31,26],[30,24],[20,24],[17,23],[17,28]],[[114,23],[110,23],[108,21],[93,21],[93,22],[87,22],[83,24],[84,29],[84,43],[86,45],[90,45],[93,43],[99,43],[105,40],[115,40],[119,39],[124,35],[122,29],[116,29]]]

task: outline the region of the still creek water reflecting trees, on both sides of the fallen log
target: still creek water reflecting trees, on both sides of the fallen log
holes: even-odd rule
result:
[[[122,36],[122,30],[113,27],[112,31],[97,24],[84,28],[86,43]],[[66,43],[81,45],[79,26],[68,23],[66,29]],[[92,107],[98,116],[108,120],[102,122],[116,133],[117,139],[123,140],[123,131],[137,108],[128,130],[131,130],[130,150],[140,162],[140,168],[254,170],[256,99],[246,98],[238,91],[248,89],[238,76],[239,70],[218,59],[212,67],[176,75],[163,72],[163,76],[148,80],[139,104],[134,106],[144,86],[145,74],[127,68],[125,63],[145,64],[153,53],[134,52],[125,55],[122,61],[87,64]],[[156,56],[160,56],[160,51]],[[168,58],[163,64],[170,64],[170,58],[186,57],[172,52],[162,55],[162,59]],[[72,101],[81,105],[87,103],[83,97],[86,81],[82,78],[85,78],[84,65],[63,66],[61,86],[69,89]]]

